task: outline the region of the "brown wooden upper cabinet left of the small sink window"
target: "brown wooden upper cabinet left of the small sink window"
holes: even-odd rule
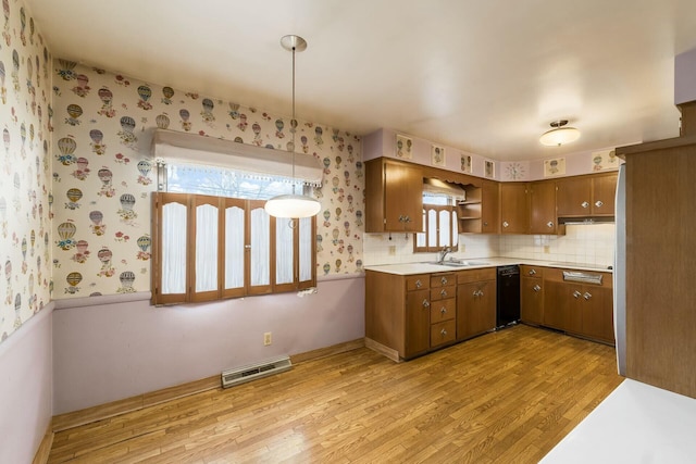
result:
[[[423,230],[423,173],[385,158],[365,163],[365,231]]]

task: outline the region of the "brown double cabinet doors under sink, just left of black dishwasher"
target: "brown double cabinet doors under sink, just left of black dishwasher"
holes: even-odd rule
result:
[[[496,327],[496,281],[474,281],[457,287],[457,339],[485,334]]]

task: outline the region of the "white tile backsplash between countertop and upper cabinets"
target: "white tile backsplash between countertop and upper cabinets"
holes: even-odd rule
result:
[[[519,258],[552,262],[611,265],[614,224],[568,225],[564,236],[475,235],[459,236],[455,258]],[[364,234],[365,265],[432,261],[436,253],[413,253],[412,234]]]

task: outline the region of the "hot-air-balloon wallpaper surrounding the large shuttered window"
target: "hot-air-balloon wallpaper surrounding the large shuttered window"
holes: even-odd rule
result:
[[[290,118],[55,60],[54,297],[150,289],[150,193],[154,128],[287,148]],[[360,138],[298,120],[298,151],[324,165],[314,190],[318,277],[362,267]]]

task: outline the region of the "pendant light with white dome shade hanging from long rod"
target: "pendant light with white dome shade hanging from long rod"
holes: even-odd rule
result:
[[[299,36],[283,36],[281,46],[287,51],[293,52],[293,120],[290,122],[293,131],[293,141],[290,142],[290,151],[293,153],[293,179],[295,179],[295,133],[297,131],[297,121],[295,120],[295,53],[307,49],[307,41]],[[263,209],[266,213],[274,217],[311,217],[322,209],[321,203],[306,195],[295,193],[296,184],[293,183],[291,195],[279,195],[273,197],[265,202]]]

